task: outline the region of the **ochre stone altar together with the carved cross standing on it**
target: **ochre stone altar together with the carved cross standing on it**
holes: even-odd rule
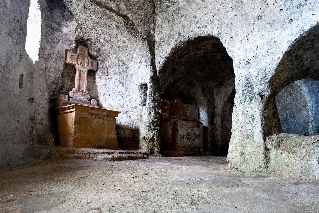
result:
[[[67,53],[67,63],[76,67],[75,87],[55,102],[60,146],[85,148],[117,148],[115,117],[119,111],[97,107],[86,90],[87,71],[96,70],[97,62],[90,59],[88,48],[78,46],[77,54]]]

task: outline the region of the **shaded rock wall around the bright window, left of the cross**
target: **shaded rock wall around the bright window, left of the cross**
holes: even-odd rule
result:
[[[41,44],[39,60],[32,61],[25,50],[30,1],[1,1],[1,163],[0,167],[36,157],[34,145],[54,145],[50,103],[59,93],[65,49],[74,45],[76,24],[58,1],[39,0]],[[70,20],[71,19],[71,20]],[[73,40],[70,42],[70,40]],[[74,81],[74,80],[73,80]],[[68,83],[67,81],[65,81]],[[53,131],[54,132],[54,131]]]

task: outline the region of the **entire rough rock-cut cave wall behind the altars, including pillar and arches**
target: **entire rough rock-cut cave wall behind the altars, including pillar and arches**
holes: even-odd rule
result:
[[[0,77],[6,82],[0,86],[0,167],[16,164],[37,141],[56,137],[50,108],[58,94],[73,88],[74,69],[65,65],[65,53],[78,44],[98,61],[98,70],[88,75],[91,97],[122,112],[116,128],[121,146],[158,154],[159,100],[180,95],[169,89],[190,79],[200,92],[187,85],[184,98],[200,105],[210,151],[227,151],[232,117],[227,160],[245,170],[267,169],[266,137],[282,132],[279,91],[297,80],[319,79],[318,1],[39,4],[40,57],[33,64],[24,49],[29,1],[0,0]]]

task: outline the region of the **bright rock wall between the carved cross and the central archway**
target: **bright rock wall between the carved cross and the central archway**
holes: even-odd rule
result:
[[[75,32],[75,43],[87,46],[98,61],[98,70],[88,78],[91,97],[99,101],[100,107],[121,111],[116,128],[120,147],[143,146],[140,140],[150,138],[146,127],[151,124],[147,120],[148,100],[145,106],[140,104],[140,97],[145,96],[140,93],[140,85],[151,87],[152,1],[61,2],[77,22],[70,29]],[[60,72],[68,75],[74,72],[72,69]],[[72,85],[62,85],[65,90],[61,92],[67,94]]]

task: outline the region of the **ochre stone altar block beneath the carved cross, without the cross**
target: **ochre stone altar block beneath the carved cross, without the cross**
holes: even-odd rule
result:
[[[80,104],[57,107],[60,146],[117,148],[115,117],[119,113]]]

